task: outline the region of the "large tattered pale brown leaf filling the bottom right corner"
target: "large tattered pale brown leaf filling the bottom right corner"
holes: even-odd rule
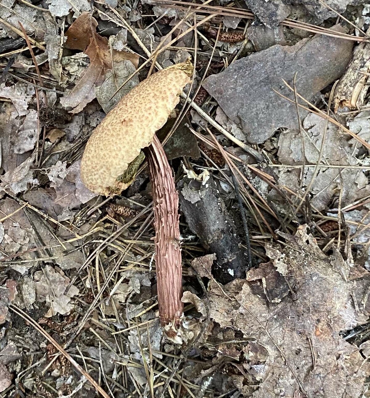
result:
[[[351,266],[339,253],[325,255],[306,225],[295,236],[280,235],[286,246],[266,246],[270,265],[281,272],[276,283],[285,279],[288,287],[280,302],[268,302],[262,281],[238,279],[222,289],[213,284],[208,292],[211,319],[224,328],[233,325],[266,349],[258,365],[245,359],[248,377],[241,389],[254,384],[253,398],[358,398],[370,366],[340,332],[367,322],[361,300],[368,280],[348,279]],[[202,312],[207,301],[199,301]]]

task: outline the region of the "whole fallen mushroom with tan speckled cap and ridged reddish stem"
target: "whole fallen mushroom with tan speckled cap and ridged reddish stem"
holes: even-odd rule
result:
[[[192,70],[190,62],[176,64],[133,88],[96,127],[81,161],[84,185],[95,193],[114,195],[130,185],[145,148],[154,203],[159,318],[171,338],[183,314],[178,194],[155,132],[180,101]]]

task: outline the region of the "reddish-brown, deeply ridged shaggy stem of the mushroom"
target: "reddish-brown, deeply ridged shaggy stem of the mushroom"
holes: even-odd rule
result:
[[[152,185],[155,225],[155,264],[159,318],[168,337],[174,338],[183,315],[182,266],[179,244],[178,193],[166,154],[156,135],[145,148]]]

